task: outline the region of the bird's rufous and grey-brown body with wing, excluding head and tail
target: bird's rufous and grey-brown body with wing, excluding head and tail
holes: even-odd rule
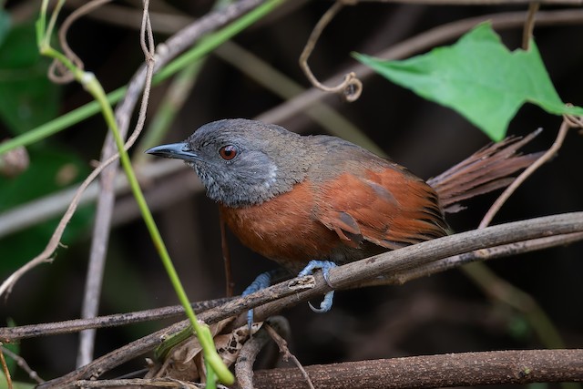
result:
[[[356,261],[447,233],[434,189],[340,138],[305,137],[318,152],[287,193],[221,212],[243,244],[292,271],[311,260]]]

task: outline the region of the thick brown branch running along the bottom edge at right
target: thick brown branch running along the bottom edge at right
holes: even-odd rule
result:
[[[583,381],[583,350],[448,353],[305,367],[318,388],[433,388]],[[404,372],[409,372],[404,373]],[[295,368],[255,372],[255,387],[305,388]]]

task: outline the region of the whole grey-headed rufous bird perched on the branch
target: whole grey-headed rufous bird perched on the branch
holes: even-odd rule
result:
[[[536,135],[491,144],[427,181],[342,138],[243,118],[210,122],[183,142],[146,152],[194,169],[252,251],[294,273],[321,268],[326,277],[333,266],[452,233],[445,213],[506,187],[537,159],[517,151]],[[330,309],[327,297],[314,311]]]

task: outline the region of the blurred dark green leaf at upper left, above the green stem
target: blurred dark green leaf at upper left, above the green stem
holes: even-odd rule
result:
[[[0,118],[15,135],[56,118],[61,88],[46,77],[34,25],[15,26],[0,45]]]

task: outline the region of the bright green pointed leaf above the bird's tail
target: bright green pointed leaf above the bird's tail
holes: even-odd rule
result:
[[[567,107],[558,97],[534,41],[527,51],[510,52],[489,23],[453,46],[403,61],[353,56],[395,84],[455,109],[493,140],[506,136],[508,123],[526,102],[555,115],[583,115],[583,108]]]

